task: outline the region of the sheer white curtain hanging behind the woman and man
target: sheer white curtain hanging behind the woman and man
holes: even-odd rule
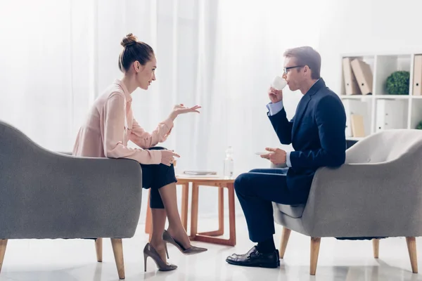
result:
[[[222,172],[228,145],[235,174],[267,167],[254,152],[281,147],[266,116],[267,89],[286,48],[317,48],[315,2],[1,1],[0,119],[45,148],[71,150],[89,105],[121,77],[120,41],[132,32],[158,60],[151,89],[132,94],[141,126],[152,130],[176,103],[203,106],[200,115],[178,117],[163,144],[181,155],[179,169]],[[292,117],[301,95],[284,96]],[[210,198],[200,213],[217,211],[214,191],[200,193]]]

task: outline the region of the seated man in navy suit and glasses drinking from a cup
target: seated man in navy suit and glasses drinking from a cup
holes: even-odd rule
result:
[[[291,91],[300,90],[303,96],[289,122],[283,92],[270,88],[268,117],[280,142],[292,143],[295,151],[267,148],[269,153],[262,157],[288,169],[255,169],[236,178],[234,188],[248,223],[249,237],[257,242],[248,253],[227,257],[228,263],[238,266],[278,267],[271,202],[305,204],[316,169],[345,162],[345,109],[320,77],[321,56],[304,46],[286,51],[284,57],[283,79]]]

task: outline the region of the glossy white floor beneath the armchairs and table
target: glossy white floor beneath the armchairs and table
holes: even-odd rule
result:
[[[245,219],[238,216],[236,247],[196,243],[209,250],[196,256],[183,256],[169,246],[170,261],[177,270],[162,273],[148,259],[143,272],[142,249],[148,237],[139,225],[136,235],[123,241],[126,280],[422,280],[422,274],[411,273],[406,240],[381,240],[380,259],[372,258],[370,241],[340,241],[323,238],[319,251],[316,276],[309,275],[309,237],[292,233],[285,259],[278,269],[230,266],[226,256],[247,251]],[[205,219],[200,225],[216,226],[217,221]],[[210,227],[212,228],[212,227]],[[276,246],[281,228],[276,228]],[[418,267],[422,272],[422,239],[416,240]],[[0,281],[43,280],[118,280],[109,240],[104,240],[103,263],[96,263],[94,242],[89,240],[10,240]]]

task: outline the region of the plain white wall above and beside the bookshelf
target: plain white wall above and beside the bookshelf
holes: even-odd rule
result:
[[[321,76],[336,93],[340,54],[422,53],[422,1],[327,0],[321,20]]]

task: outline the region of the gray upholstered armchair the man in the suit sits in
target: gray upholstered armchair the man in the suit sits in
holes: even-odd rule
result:
[[[415,237],[422,235],[422,131],[375,133],[346,151],[338,169],[318,169],[305,205],[273,203],[283,226],[280,256],[290,231],[311,237],[310,274],[315,275],[321,237],[406,237],[411,269],[418,272]]]

